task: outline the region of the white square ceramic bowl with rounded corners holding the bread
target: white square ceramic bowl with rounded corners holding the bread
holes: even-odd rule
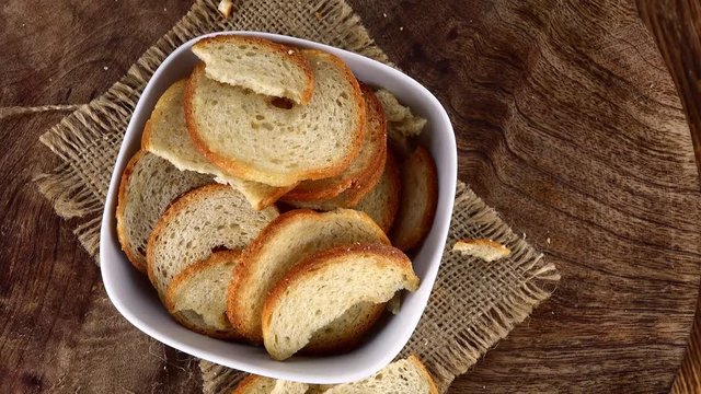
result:
[[[122,172],[129,158],[139,149],[146,120],[161,93],[171,83],[189,74],[197,60],[191,47],[202,37],[180,46],[156,70],[127,127],[102,218],[100,260],[105,289],[116,309],[137,328],[168,346],[195,357],[251,373],[308,383],[342,383],[366,378],[391,362],[404,347],[426,308],[438,273],[450,224],[457,177],[456,139],[450,119],[428,90],[412,78],[378,61],[300,38],[254,32],[233,34],[254,35],[332,53],[345,60],[359,80],[389,89],[414,113],[428,119],[422,140],[436,159],[439,196],[430,233],[423,247],[413,256],[414,269],[421,278],[420,289],[406,294],[400,313],[382,323],[359,348],[340,356],[292,357],[283,362],[272,360],[262,347],[212,339],[193,333],[168,315],[148,278],[131,267],[120,250],[115,230],[115,208]]]

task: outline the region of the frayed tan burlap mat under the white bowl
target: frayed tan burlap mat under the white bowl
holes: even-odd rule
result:
[[[146,51],[105,94],[80,107],[41,137],[62,160],[35,181],[62,218],[79,218],[74,233],[97,258],[100,217],[124,131],[146,82],[168,54],[205,33],[251,30],[287,34],[349,49],[389,62],[343,0],[237,2],[223,20],[214,1],[196,1],[165,36]],[[489,237],[513,254],[495,263],[461,257],[449,251],[457,239]],[[445,391],[515,324],[545,300],[560,279],[524,239],[458,182],[452,223],[428,306],[401,357],[424,360]],[[459,317],[459,318],[458,318]],[[200,361],[205,393],[228,392],[242,373]]]

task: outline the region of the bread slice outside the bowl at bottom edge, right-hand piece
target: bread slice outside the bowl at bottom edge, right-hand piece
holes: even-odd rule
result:
[[[325,394],[438,394],[433,376],[415,356],[398,360],[358,382],[331,386]]]

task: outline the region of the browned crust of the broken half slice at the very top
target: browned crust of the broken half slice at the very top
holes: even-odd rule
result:
[[[301,97],[299,97],[300,100],[298,104],[302,104],[302,105],[309,104],[309,101],[311,100],[311,95],[314,90],[314,71],[312,70],[311,65],[309,65],[309,60],[307,59],[307,57],[304,57],[304,55],[299,48],[275,43],[269,39],[265,39],[261,37],[254,37],[254,36],[218,35],[214,37],[206,37],[198,40],[193,45],[193,49],[197,49],[198,47],[202,47],[206,44],[215,43],[215,42],[229,43],[229,44],[245,43],[245,44],[252,44],[252,45],[260,45],[260,46],[267,47],[275,53],[279,53],[280,55],[283,55],[284,58],[288,58],[294,63],[299,66],[299,68],[301,68],[304,74],[307,76],[307,85],[304,86],[304,90],[301,93]],[[292,97],[287,97],[287,99],[290,99],[297,102],[297,100]]]

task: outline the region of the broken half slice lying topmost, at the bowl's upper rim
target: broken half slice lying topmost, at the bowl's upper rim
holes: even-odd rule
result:
[[[198,40],[193,53],[208,78],[297,104],[307,104],[314,73],[301,50],[260,37],[219,35]]]

